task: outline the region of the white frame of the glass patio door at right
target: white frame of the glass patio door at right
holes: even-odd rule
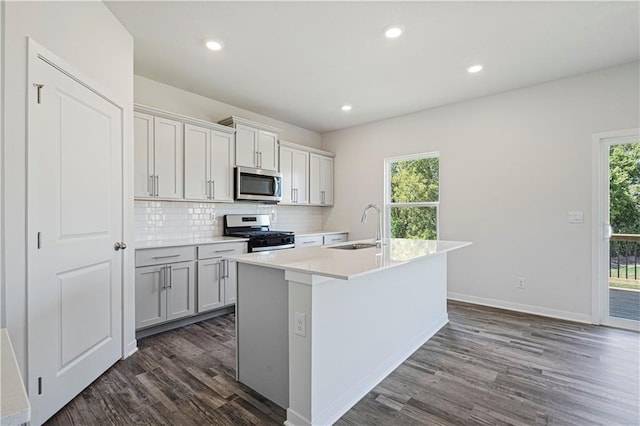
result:
[[[605,226],[609,219],[609,148],[638,142],[640,128],[595,133],[592,137],[592,244],[591,244],[591,321],[596,325],[640,331],[640,322],[609,316],[608,268],[609,243]]]

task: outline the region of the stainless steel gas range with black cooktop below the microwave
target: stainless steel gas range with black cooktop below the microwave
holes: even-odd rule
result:
[[[227,214],[224,235],[249,238],[249,253],[295,247],[295,235],[289,231],[272,231],[268,214]]]

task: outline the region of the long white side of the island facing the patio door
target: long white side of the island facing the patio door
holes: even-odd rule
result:
[[[290,320],[296,311],[312,315],[306,338],[289,333],[290,344],[297,341],[310,354],[289,352],[292,367],[309,364],[290,369],[287,424],[334,423],[448,322],[446,258],[430,256],[310,288],[289,281],[290,296],[298,296],[289,299]],[[300,401],[304,395],[308,400]]]

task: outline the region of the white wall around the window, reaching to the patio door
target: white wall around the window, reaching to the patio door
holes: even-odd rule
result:
[[[440,151],[440,238],[473,242],[450,256],[450,296],[590,321],[591,136],[639,127],[639,93],[635,63],[325,134],[324,226],[373,236],[359,219],[383,203],[384,158]]]

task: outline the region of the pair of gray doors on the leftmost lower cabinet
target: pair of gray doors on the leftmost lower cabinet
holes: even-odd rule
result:
[[[136,268],[136,329],[195,314],[195,262]]]

